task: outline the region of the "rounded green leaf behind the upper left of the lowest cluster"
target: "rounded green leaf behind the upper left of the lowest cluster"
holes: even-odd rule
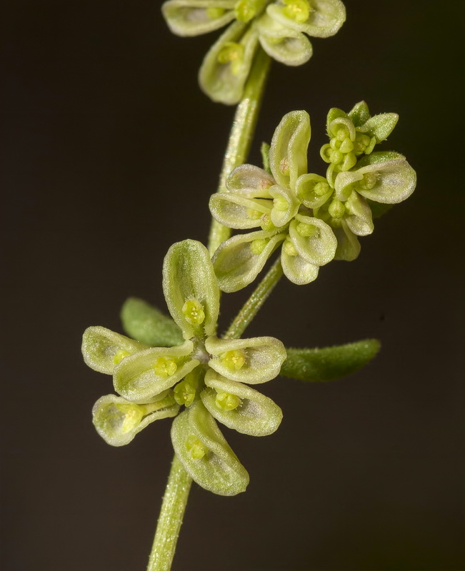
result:
[[[168,315],[139,298],[128,298],[121,308],[126,333],[151,347],[171,347],[184,343],[181,329]]]

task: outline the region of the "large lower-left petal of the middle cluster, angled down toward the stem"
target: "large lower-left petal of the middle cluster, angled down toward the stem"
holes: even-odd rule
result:
[[[259,231],[223,242],[212,259],[220,289],[231,293],[249,285],[284,238],[286,234]]]

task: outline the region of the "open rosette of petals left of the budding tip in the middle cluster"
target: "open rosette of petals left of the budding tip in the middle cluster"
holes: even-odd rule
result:
[[[221,224],[261,227],[229,238],[216,250],[213,263],[222,290],[251,283],[279,246],[284,274],[296,284],[314,281],[319,267],[334,258],[334,233],[310,209],[332,191],[324,177],[306,173],[309,140],[308,113],[287,113],[271,141],[271,174],[257,166],[239,166],[226,181],[227,192],[211,196],[211,213]]]

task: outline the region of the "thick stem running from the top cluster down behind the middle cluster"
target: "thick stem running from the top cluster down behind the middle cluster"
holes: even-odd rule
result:
[[[226,178],[228,178],[233,168],[244,163],[249,153],[270,62],[271,58],[269,55],[259,46],[259,51],[254,58],[254,64],[244,88],[244,96],[237,106],[236,114],[234,115],[223,167],[219,176],[218,192],[226,190]],[[216,220],[212,221],[208,244],[210,256],[213,256],[216,248],[218,248],[221,242],[227,240],[229,236],[231,236],[231,228],[223,226]]]

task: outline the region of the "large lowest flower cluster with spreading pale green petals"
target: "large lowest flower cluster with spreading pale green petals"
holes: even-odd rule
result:
[[[281,409],[243,383],[276,377],[286,350],[271,337],[216,337],[219,288],[201,243],[186,240],[171,246],[163,276],[166,303],[184,343],[149,347],[102,327],[84,333],[85,362],[113,375],[119,395],[97,400],[94,425],[107,443],[120,446],[154,420],[177,415],[171,440],[186,471],[207,490],[234,495],[245,490],[249,475],[215,419],[244,434],[274,433]]]

